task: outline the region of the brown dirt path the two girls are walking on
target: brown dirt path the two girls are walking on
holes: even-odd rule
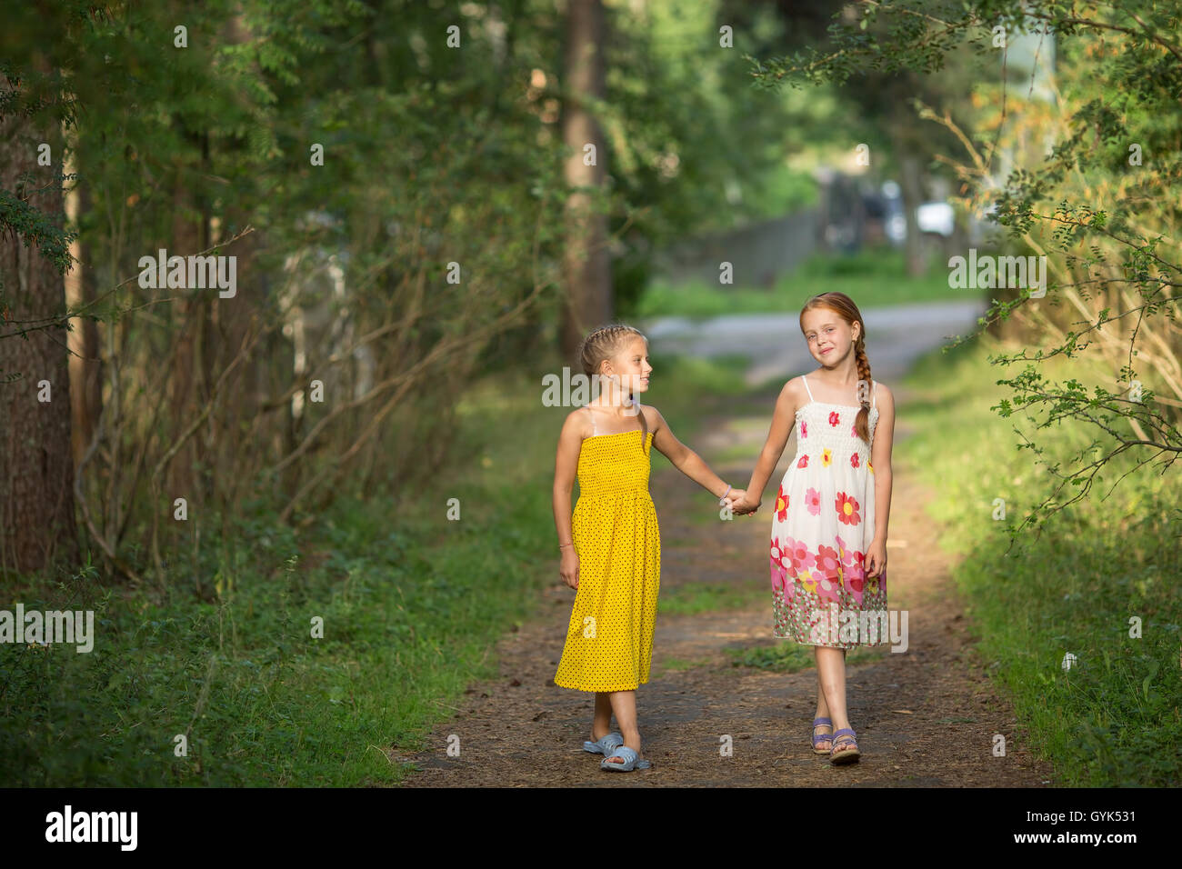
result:
[[[741,447],[751,459],[712,466],[727,479],[746,480],[767,426],[766,419],[760,424],[752,419],[773,403],[774,397],[753,397],[745,403],[752,414],[747,420],[729,407],[727,420],[708,420],[700,436],[687,440],[708,461]],[[898,426],[896,441],[905,435],[905,427]],[[790,440],[768,489],[794,450]],[[849,666],[850,719],[863,757],[858,764],[833,767],[812,753],[807,740],[816,669],[736,667],[727,654],[787,642],[772,636],[768,495],[752,518],[695,523],[673,505],[706,512],[712,510],[709,497],[668,462],[657,467],[650,489],[663,540],[662,597],[686,583],[741,583],[766,590],[766,599],[704,615],[658,611],[651,679],[637,693],[644,757],[652,767],[610,774],[599,770],[600,755],[582,750],[590,738],[591,695],[552,681],[574,594],[558,581],[556,559],[556,584],[537,617],[499,644],[499,677],[468,689],[459,713],[431,734],[436,748],[392,750],[396,763],[418,770],[404,786],[1051,784],[1048,765],[1027,752],[1013,709],[991,686],[989,662],[974,655],[952,578],[955,566],[937,546],[937,528],[922,508],[930,495],[911,468],[894,462],[888,541],[890,609],[909,610],[910,648],[891,654],[879,647],[881,654]],[[992,753],[998,733],[1006,737],[1004,758]],[[447,755],[449,734],[460,738],[460,757]],[[725,735],[732,738],[732,757],[720,754]]]

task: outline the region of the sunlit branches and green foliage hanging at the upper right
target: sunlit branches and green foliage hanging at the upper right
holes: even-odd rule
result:
[[[1182,46],[1177,4],[1130,2],[1087,15],[1054,0],[983,0],[949,5],[873,4],[830,28],[832,45],[756,64],[765,86],[844,82],[855,72],[935,73],[946,59],[976,52],[985,74],[1008,64],[1008,43],[1019,34],[1053,39],[1051,95],[1034,98],[1035,82],[1020,92],[982,85],[973,95],[982,109],[978,129],[962,132],[941,118],[947,105],[922,116],[955,129],[967,157],[957,168],[962,205],[1005,228],[1021,253],[1045,254],[1045,303],[1032,304],[1026,287],[998,291],[988,322],[1020,311],[1022,346],[998,354],[995,364],[1026,364],[1000,381],[1014,390],[999,402],[1004,414],[1032,408],[1039,429],[1064,421],[1091,433],[1070,461],[1034,450],[1058,485],[1041,508],[1064,508],[1086,494],[1104,461],[1136,450],[1169,468],[1182,452],[1176,372],[1182,358],[1176,320],[1182,286]],[[995,32],[1000,28],[999,32]],[[996,46],[996,47],[994,47]],[[963,102],[963,95],[943,102]],[[1046,148],[1050,142],[1051,147]],[[1038,143],[1032,145],[1030,143]],[[1001,176],[1001,166],[1007,167]],[[1084,312],[1080,322],[1079,313]],[[982,323],[986,320],[982,320]],[[1051,341],[1053,337],[1053,341]],[[1048,346],[1050,344],[1050,346]],[[1031,349],[1027,346],[1033,345]],[[1100,356],[1092,395],[1078,382],[1044,376],[1047,359]],[[1141,357],[1141,358],[1138,358]],[[1110,389],[1115,385],[1116,389]],[[1167,398],[1157,401],[1157,395]],[[1050,452],[1061,446],[1048,440]],[[1085,456],[1098,449],[1098,461]],[[1060,498],[1065,487],[1076,498]],[[1070,489],[1069,489],[1070,491]],[[1046,518],[1035,511],[1033,521]],[[1017,533],[1020,528],[1013,528]]]

